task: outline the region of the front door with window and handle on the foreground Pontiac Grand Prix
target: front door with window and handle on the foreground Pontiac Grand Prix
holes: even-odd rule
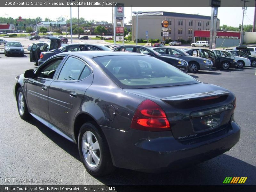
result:
[[[53,77],[64,57],[44,63],[36,70],[36,77],[27,81],[27,100],[31,112],[51,122],[48,109],[48,92]]]

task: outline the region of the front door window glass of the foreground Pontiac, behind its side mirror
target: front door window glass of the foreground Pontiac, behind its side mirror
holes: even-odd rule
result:
[[[42,67],[40,66],[36,71],[37,77],[52,79],[63,59],[64,57],[59,57],[44,63]]]

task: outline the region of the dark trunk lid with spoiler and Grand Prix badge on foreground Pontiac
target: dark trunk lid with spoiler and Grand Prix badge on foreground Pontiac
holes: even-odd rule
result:
[[[235,99],[234,95],[211,84],[124,91],[145,97],[161,106],[176,140],[193,139],[226,128],[235,108],[230,104]]]

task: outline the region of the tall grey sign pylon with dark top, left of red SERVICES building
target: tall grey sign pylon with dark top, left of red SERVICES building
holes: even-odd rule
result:
[[[211,28],[210,28],[211,31],[210,31],[209,49],[215,49],[218,7],[220,7],[220,0],[210,0],[210,6],[212,7],[212,16],[211,16]]]

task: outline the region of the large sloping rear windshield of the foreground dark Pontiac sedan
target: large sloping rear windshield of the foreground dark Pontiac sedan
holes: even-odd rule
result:
[[[199,83],[172,65],[143,55],[115,55],[93,58],[121,88],[152,88]]]

